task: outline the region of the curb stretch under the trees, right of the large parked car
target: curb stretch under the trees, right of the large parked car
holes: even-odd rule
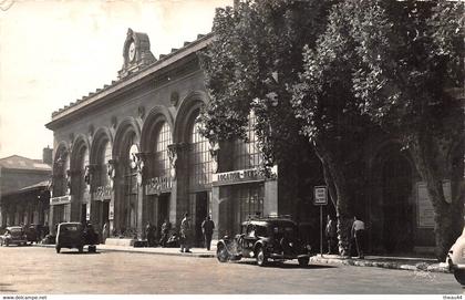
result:
[[[409,271],[422,271],[422,272],[444,272],[451,273],[445,263],[405,263],[399,261],[375,261],[365,259],[352,259],[352,258],[320,258],[311,257],[311,262],[329,263],[329,265],[345,265],[345,266],[358,266],[358,267],[378,267],[384,269],[397,269]]]

